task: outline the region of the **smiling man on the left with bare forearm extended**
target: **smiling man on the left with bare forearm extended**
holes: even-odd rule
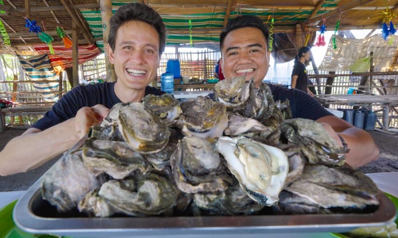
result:
[[[165,26],[155,10],[141,3],[121,6],[110,19],[106,49],[117,82],[73,88],[0,152],[0,175],[34,169],[70,149],[116,103],[162,95],[148,84],[156,77],[165,38]]]

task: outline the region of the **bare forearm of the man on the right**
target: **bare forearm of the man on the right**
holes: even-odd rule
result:
[[[325,116],[316,121],[322,123],[340,145],[343,143],[337,135],[344,138],[350,150],[345,157],[348,165],[358,168],[379,158],[379,148],[366,131],[335,116]]]

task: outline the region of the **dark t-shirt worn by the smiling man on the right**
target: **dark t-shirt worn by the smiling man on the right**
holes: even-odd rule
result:
[[[293,118],[305,118],[317,120],[325,116],[333,116],[316,99],[303,91],[295,88],[288,89],[279,85],[267,84],[271,88],[273,100],[285,101],[289,99],[291,114]],[[214,93],[207,95],[214,100]]]

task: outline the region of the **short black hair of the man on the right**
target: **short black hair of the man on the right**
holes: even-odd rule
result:
[[[225,26],[224,31],[221,32],[220,34],[220,51],[222,48],[222,45],[224,44],[224,39],[225,36],[227,36],[228,33],[237,30],[239,28],[244,28],[244,27],[253,27],[257,28],[260,30],[264,36],[265,36],[265,42],[268,47],[268,38],[269,38],[269,33],[268,33],[268,27],[264,25],[263,21],[256,16],[252,15],[240,15],[235,17],[234,19],[231,19],[228,21],[227,25]]]

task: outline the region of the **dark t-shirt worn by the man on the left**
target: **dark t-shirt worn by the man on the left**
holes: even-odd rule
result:
[[[116,103],[122,102],[116,96],[114,90],[115,82],[93,85],[79,85],[66,93],[56,102],[50,111],[42,119],[36,121],[31,127],[44,131],[56,124],[76,116],[77,111],[85,106],[94,106],[102,104],[107,108],[112,108]],[[147,94],[162,95],[165,92],[160,89],[146,86],[145,96]]]

